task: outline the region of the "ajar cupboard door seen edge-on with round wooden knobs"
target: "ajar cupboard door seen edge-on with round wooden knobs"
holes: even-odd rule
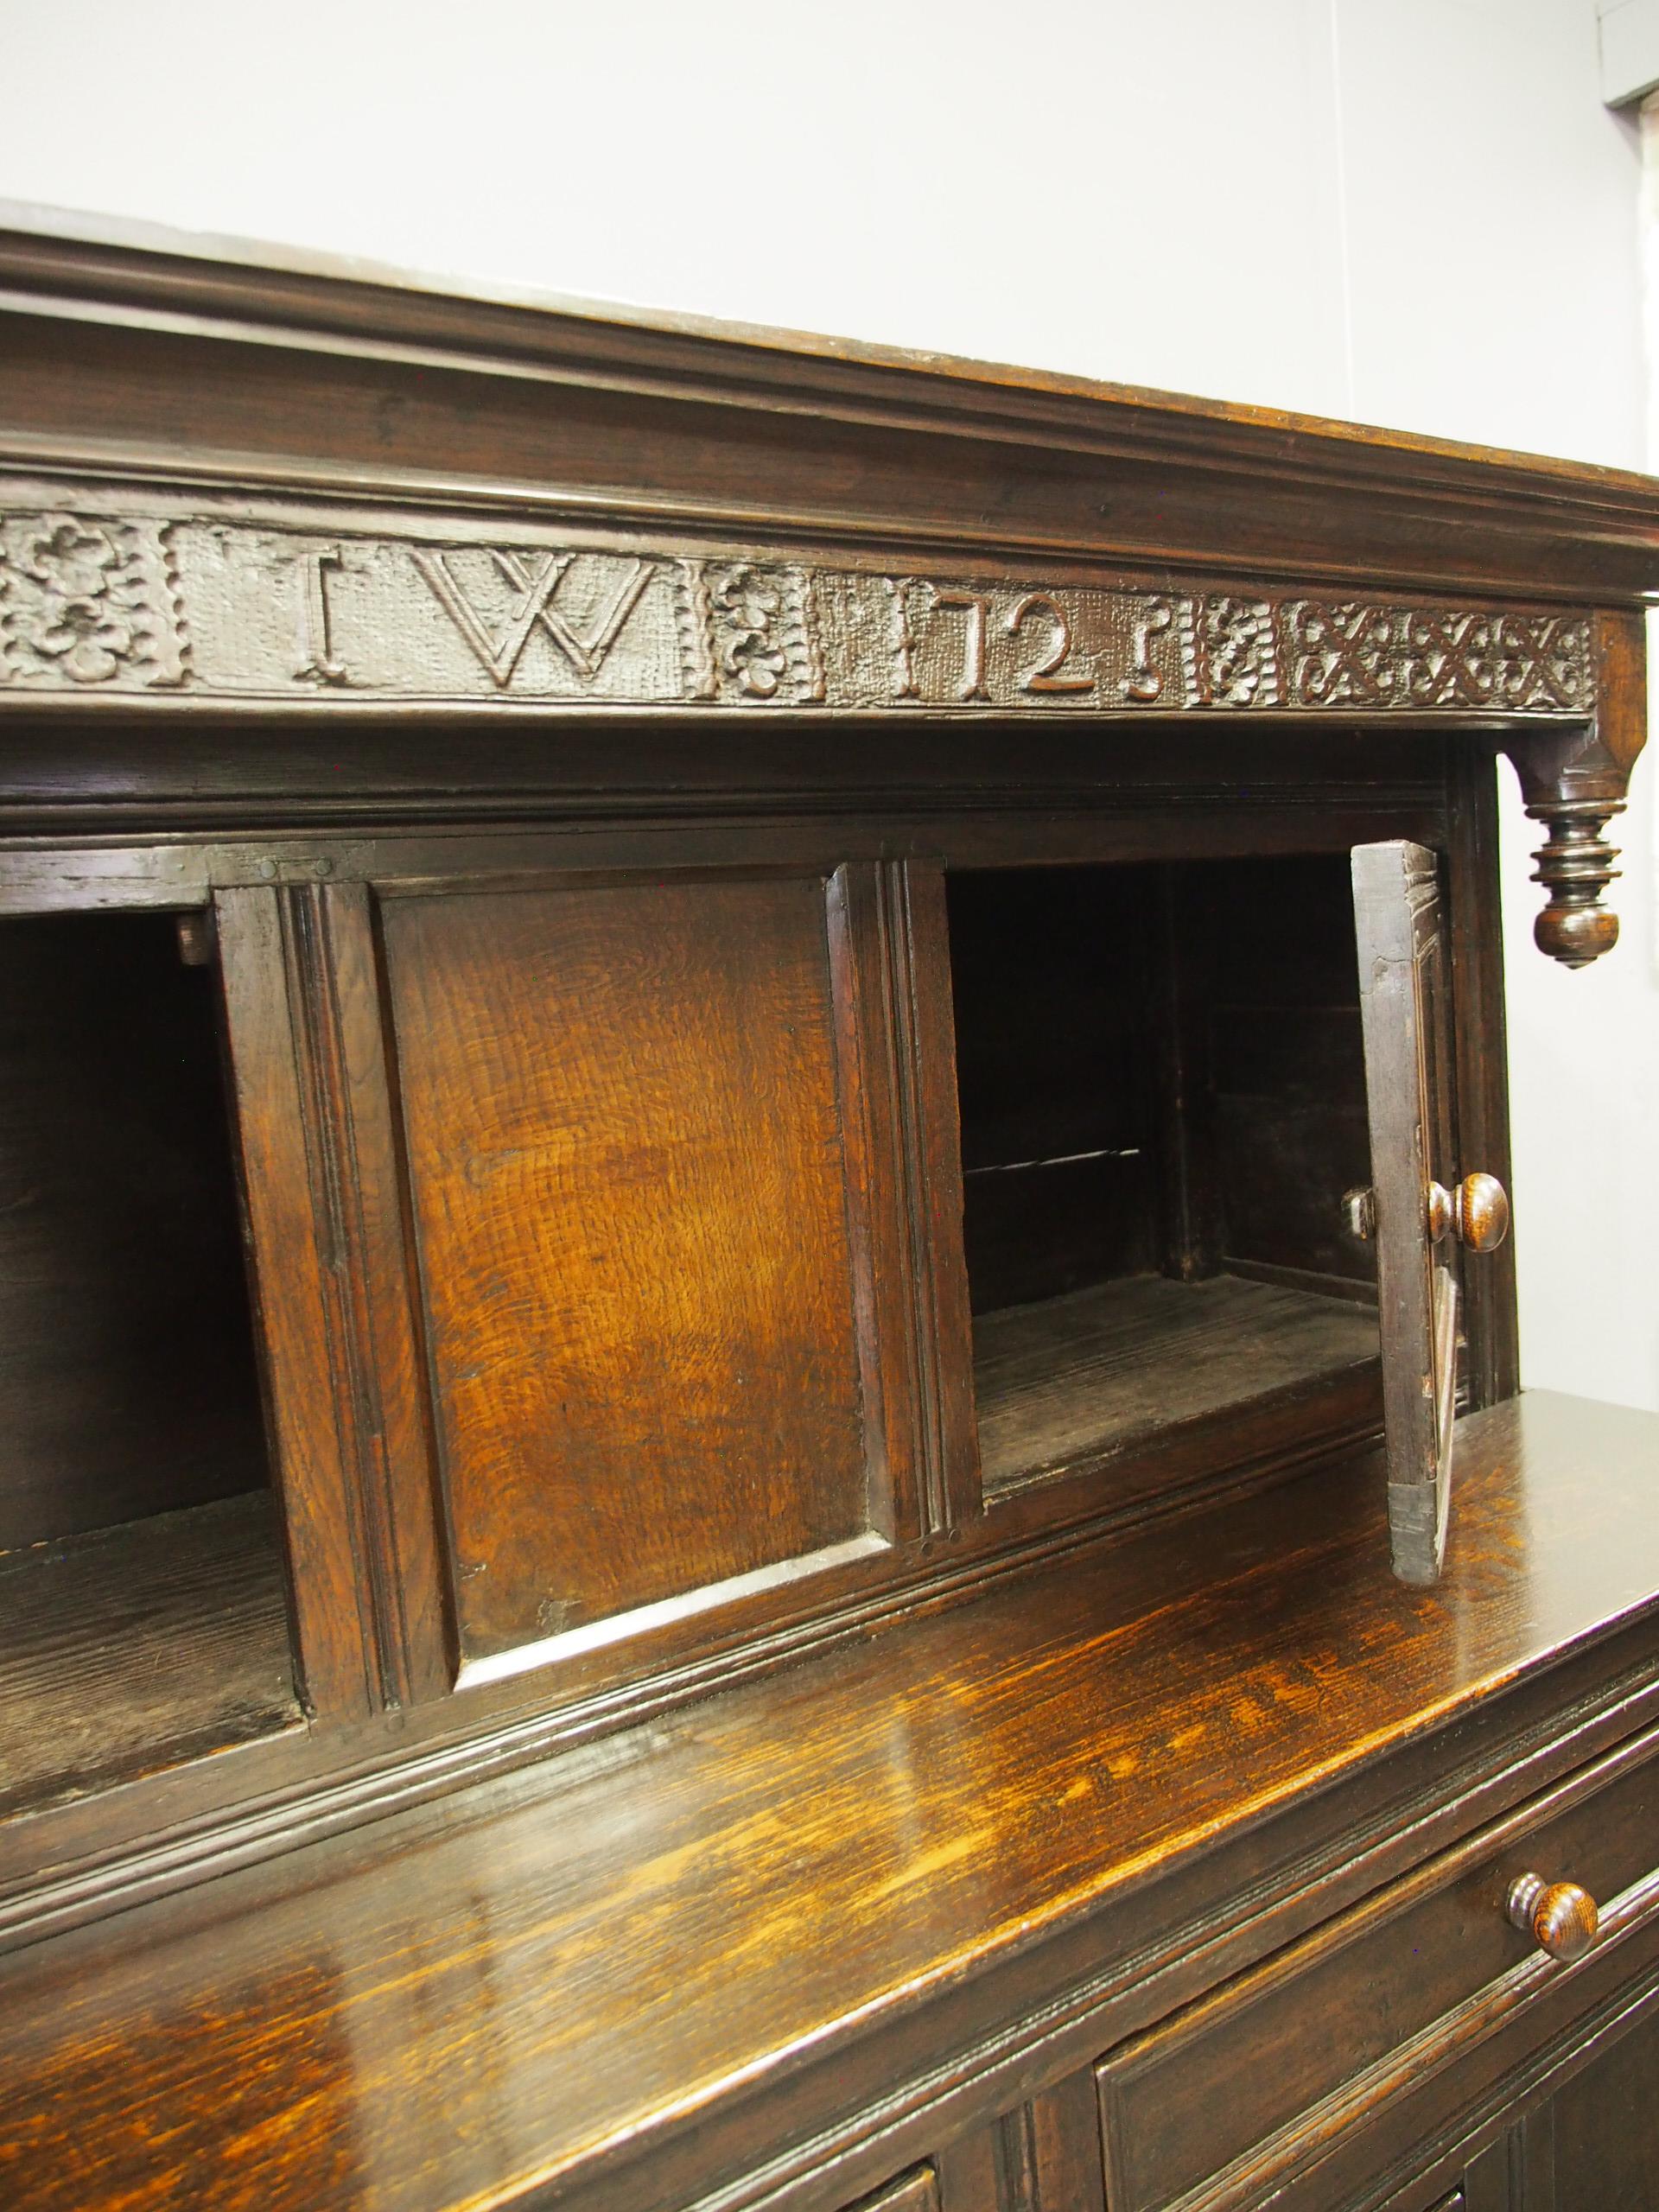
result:
[[[1451,1119],[1451,951],[1438,860],[1422,845],[1354,847],[1371,1188],[1352,1225],[1376,1239],[1389,1548],[1402,1582],[1440,1575],[1458,1405],[1455,1243],[1502,1243],[1509,1201],[1458,1179]],[[1475,1164],[1467,1164],[1475,1168]]]

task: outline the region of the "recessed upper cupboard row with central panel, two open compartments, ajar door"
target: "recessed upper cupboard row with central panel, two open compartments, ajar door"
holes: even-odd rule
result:
[[[1433,854],[484,858],[0,922],[4,1809],[577,1705],[1385,1400],[1433,1575]]]

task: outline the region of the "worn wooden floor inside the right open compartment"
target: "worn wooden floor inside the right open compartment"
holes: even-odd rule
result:
[[[1378,1367],[1376,1312],[1274,1283],[1144,1274],[973,1323],[987,1491]]]

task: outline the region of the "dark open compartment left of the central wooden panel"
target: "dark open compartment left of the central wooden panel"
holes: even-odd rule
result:
[[[0,1814],[299,1719],[221,1062],[201,918],[0,922]]]

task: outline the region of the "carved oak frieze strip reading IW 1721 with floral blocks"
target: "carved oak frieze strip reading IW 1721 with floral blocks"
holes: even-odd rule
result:
[[[1586,714],[1590,626],[637,546],[0,518],[0,699]]]

